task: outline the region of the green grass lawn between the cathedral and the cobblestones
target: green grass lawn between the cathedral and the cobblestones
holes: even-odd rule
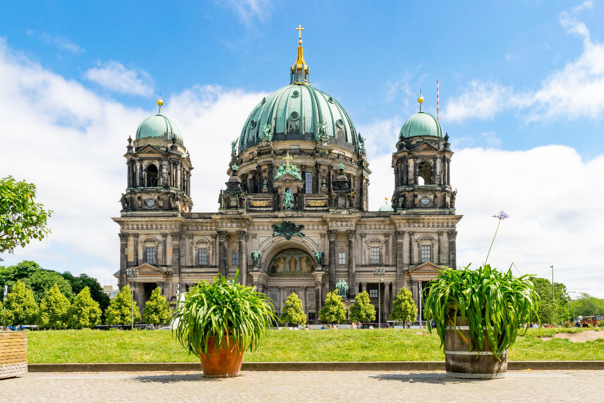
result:
[[[604,360],[602,338],[571,343],[539,337],[580,329],[529,329],[510,350],[510,360]],[[245,361],[443,361],[436,334],[416,329],[271,330]],[[198,358],[166,330],[50,330],[28,333],[30,363],[193,362]]]

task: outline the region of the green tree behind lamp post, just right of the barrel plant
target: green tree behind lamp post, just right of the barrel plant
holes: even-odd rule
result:
[[[566,286],[562,283],[554,283],[554,299],[551,299],[551,282],[541,277],[528,277],[535,286],[535,292],[539,295],[539,310],[531,315],[530,321],[541,323],[560,324],[568,320],[568,294]]]

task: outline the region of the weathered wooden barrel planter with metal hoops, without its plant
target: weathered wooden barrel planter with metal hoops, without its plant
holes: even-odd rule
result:
[[[499,361],[490,350],[489,343],[484,342],[482,350],[478,350],[476,341],[471,351],[469,344],[456,335],[457,330],[469,341],[469,326],[457,318],[457,327],[451,321],[447,323],[445,334],[445,367],[447,376],[454,378],[493,379],[504,378],[507,372],[507,350],[501,354]],[[485,330],[486,333],[486,330]]]

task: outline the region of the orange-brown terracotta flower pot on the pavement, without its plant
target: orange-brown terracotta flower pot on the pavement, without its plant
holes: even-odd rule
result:
[[[237,352],[231,335],[229,335],[228,348],[222,347],[216,351],[214,336],[208,336],[208,355],[199,354],[204,376],[206,378],[233,378],[239,376],[244,352],[245,350]]]

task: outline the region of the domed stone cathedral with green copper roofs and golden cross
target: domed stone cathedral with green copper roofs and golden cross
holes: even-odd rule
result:
[[[158,114],[128,138],[127,188],[113,219],[115,276],[120,288],[132,283],[141,309],[158,286],[175,303],[198,280],[239,271],[238,281],[272,298],[277,313],[295,292],[308,320],[317,320],[338,284],[347,307],[367,291],[383,321],[400,289],[419,303],[420,286],[437,269],[456,267],[453,153],[437,118],[422,111],[423,97],[392,145],[391,204],[370,211],[365,139],[338,100],[310,85],[300,35],[290,75],[231,143],[217,211],[193,211],[191,156],[161,114],[161,98]]]

